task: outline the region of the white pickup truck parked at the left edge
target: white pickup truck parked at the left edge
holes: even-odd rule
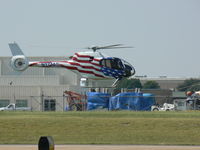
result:
[[[11,103],[6,107],[1,107],[0,111],[31,111],[31,107],[16,107],[16,104]]]

